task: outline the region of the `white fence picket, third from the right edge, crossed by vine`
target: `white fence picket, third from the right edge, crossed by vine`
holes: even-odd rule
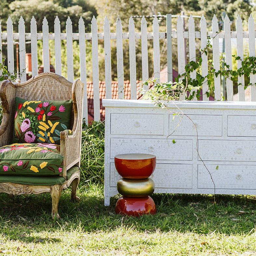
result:
[[[224,19],[224,33],[225,33],[226,64],[229,66],[229,70],[232,70],[230,20],[227,15]],[[233,101],[233,81],[230,80],[230,78],[226,78],[226,88],[227,88],[227,100]]]

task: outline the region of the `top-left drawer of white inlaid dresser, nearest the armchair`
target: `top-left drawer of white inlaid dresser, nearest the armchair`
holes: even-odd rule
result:
[[[163,135],[163,114],[111,114],[111,134]]]

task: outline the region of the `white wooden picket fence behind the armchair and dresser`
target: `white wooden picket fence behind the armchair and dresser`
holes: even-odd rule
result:
[[[219,33],[218,20],[214,16],[212,19],[212,31],[207,31],[207,24],[205,17],[202,16],[200,20],[200,31],[195,31],[195,23],[192,15],[188,20],[188,31],[183,31],[182,17],[179,15],[177,18],[177,31],[172,31],[172,15],[166,15],[167,26],[166,32],[159,32],[159,23],[157,17],[153,20],[153,32],[147,31],[147,22],[144,17],[141,19],[141,32],[135,32],[134,20],[131,17],[129,19],[128,33],[122,30],[122,21],[120,18],[116,21],[116,32],[110,32],[110,24],[107,17],[104,20],[104,33],[98,33],[98,25],[95,17],[92,18],[91,33],[85,33],[84,20],[79,20],[79,33],[72,32],[72,21],[70,18],[66,22],[66,33],[61,33],[60,20],[56,17],[54,22],[54,33],[48,32],[47,19],[43,20],[43,31],[37,33],[37,25],[34,17],[31,19],[30,33],[25,33],[24,20],[20,17],[19,21],[19,33],[13,33],[12,20],[9,17],[7,20],[7,33],[1,30],[0,23],[0,50],[2,49],[2,42],[7,41],[7,57],[8,57],[8,71],[14,72],[14,41],[19,41],[19,61],[20,61],[20,80],[26,81],[26,40],[31,42],[31,54],[32,54],[32,75],[36,75],[38,72],[37,61],[37,40],[43,40],[43,58],[44,58],[44,72],[49,72],[49,40],[55,42],[55,69],[56,73],[61,75],[61,40],[67,40],[67,79],[74,80],[73,69],[73,40],[79,40],[80,51],[80,79],[86,85],[86,43],[85,40],[91,40],[92,43],[92,70],[93,70],[93,94],[94,94],[94,120],[100,120],[100,97],[99,97],[99,60],[98,60],[98,40],[104,40],[104,52],[105,52],[105,82],[106,82],[106,98],[111,98],[111,40],[116,40],[117,49],[117,77],[118,77],[118,91],[119,98],[123,98],[124,87],[124,65],[123,65],[123,40],[129,39],[129,64],[130,64],[130,85],[131,85],[131,99],[136,99],[136,51],[135,51],[135,39],[141,40],[141,59],[142,59],[142,79],[145,80],[149,77],[148,71],[148,45],[149,39],[153,39],[154,46],[154,76],[160,78],[160,47],[159,39],[167,40],[167,66],[168,66],[168,81],[172,80],[172,38],[177,38],[178,45],[178,72],[182,73],[185,67],[184,55],[184,38],[189,40],[189,59],[194,60],[196,57],[196,44],[195,39],[201,39],[201,49],[204,49],[207,44],[207,35],[212,40],[213,50],[213,64],[216,71],[220,69],[219,58],[219,38],[225,38],[226,49],[226,63],[232,67],[232,54],[231,54],[231,38],[236,38],[237,55],[243,59],[243,38],[249,39],[249,56],[255,56],[255,23],[252,16],[248,20],[248,31],[243,31],[242,20],[238,16],[236,20],[236,31],[230,31],[230,20],[226,16],[224,19],[224,31]],[[0,53],[0,61],[2,61],[2,53]],[[238,68],[241,67],[241,61],[237,63]],[[208,56],[202,55],[202,75],[208,74]],[[195,77],[195,73],[191,74]],[[238,88],[239,101],[245,101],[244,90],[244,77],[239,77],[238,82],[242,85]],[[250,75],[250,82],[254,84],[256,82],[256,75]],[[215,87],[215,100],[221,100],[221,78],[217,76],[214,78]],[[209,99],[205,95],[207,91],[207,83],[203,86],[203,100]],[[227,100],[233,100],[233,83],[229,79],[226,80]],[[84,92],[84,109],[83,116],[87,119],[87,90],[85,86]],[[251,101],[256,101],[256,87],[251,87]]]

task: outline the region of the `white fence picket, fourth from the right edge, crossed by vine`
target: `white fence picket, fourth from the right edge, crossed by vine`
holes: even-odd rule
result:
[[[218,72],[220,70],[220,49],[219,49],[219,25],[218,20],[214,14],[212,19],[212,34],[215,34],[215,37],[212,39],[213,47],[213,68]],[[221,100],[221,76],[214,76],[214,98],[216,101]]]

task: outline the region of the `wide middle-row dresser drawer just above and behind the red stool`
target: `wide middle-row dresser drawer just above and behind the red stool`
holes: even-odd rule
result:
[[[118,154],[153,154],[156,160],[192,160],[192,140],[111,138],[110,158]]]

